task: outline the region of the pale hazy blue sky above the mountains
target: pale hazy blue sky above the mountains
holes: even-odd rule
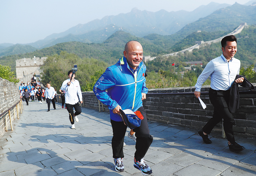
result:
[[[104,16],[131,12],[193,11],[210,2],[245,4],[250,0],[0,0],[0,44],[30,43]]]

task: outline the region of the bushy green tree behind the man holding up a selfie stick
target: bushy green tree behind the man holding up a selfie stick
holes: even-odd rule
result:
[[[68,72],[74,65],[77,65],[78,71],[75,74],[81,86],[81,91],[92,90],[91,76],[94,75],[98,70],[105,70],[108,64],[103,61],[99,61],[94,58],[81,59],[77,55],[67,52],[60,52],[59,55],[53,55],[47,58],[44,65],[41,67],[43,71],[42,83],[50,83],[56,91],[61,88],[62,82],[68,79]],[[95,83],[95,82],[94,82]],[[88,84],[88,85],[87,85]]]

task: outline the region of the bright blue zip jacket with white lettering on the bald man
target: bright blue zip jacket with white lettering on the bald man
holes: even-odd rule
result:
[[[146,66],[141,62],[137,67],[137,76],[134,75],[126,58],[122,57],[115,65],[108,67],[95,83],[94,94],[109,106],[111,120],[123,121],[120,115],[112,111],[117,105],[134,112],[142,106],[141,93],[148,92],[145,72]]]

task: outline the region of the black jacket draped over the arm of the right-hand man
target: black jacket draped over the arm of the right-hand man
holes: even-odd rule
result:
[[[247,90],[254,90],[254,86],[245,78],[245,76],[237,75],[235,79],[244,77],[244,81],[242,82],[242,87],[246,88]],[[230,88],[229,94],[229,111],[235,112],[236,109],[239,108],[239,91],[238,91],[238,84],[234,82]]]

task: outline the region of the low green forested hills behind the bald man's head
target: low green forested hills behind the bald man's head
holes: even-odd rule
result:
[[[152,34],[143,38],[132,36],[130,33],[124,31],[117,31],[112,34],[103,43],[82,43],[82,42],[64,42],[56,44],[48,48],[36,50],[34,52],[10,55],[0,57],[0,64],[9,65],[12,67],[12,71],[15,71],[15,60],[25,58],[36,57],[47,57],[55,54],[60,54],[62,51],[73,53],[78,55],[80,58],[95,58],[105,61],[109,64],[114,64],[120,57],[124,50],[125,43],[129,40],[139,41],[144,48],[144,55],[157,56],[164,55],[171,52],[175,52],[179,48],[185,46],[194,45],[197,40],[208,40],[220,37],[222,34],[228,32],[212,32],[212,33],[192,33],[183,39],[183,42],[179,42],[179,37],[175,35],[161,36]],[[175,46],[175,47],[173,47]]]

